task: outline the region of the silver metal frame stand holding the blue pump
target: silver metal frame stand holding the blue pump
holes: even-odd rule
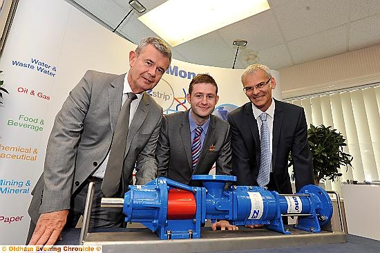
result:
[[[252,250],[272,247],[292,247],[347,242],[346,234],[323,230],[320,233],[305,232],[287,225],[291,234],[280,234],[268,229],[249,229],[239,227],[238,231],[211,231],[202,227],[202,238],[160,240],[149,229],[126,229],[126,232],[88,233],[88,221],[91,215],[93,182],[88,187],[88,197],[84,214],[84,226],[81,230],[79,244],[103,245],[104,252],[212,252],[229,250]],[[332,192],[330,192],[332,193]],[[334,194],[336,194],[334,192]],[[337,195],[337,194],[336,194]],[[337,196],[339,198],[339,196]],[[338,206],[341,217],[341,209]],[[341,221],[342,223],[342,221]],[[343,228],[343,224],[341,224]],[[329,229],[328,226],[324,229]],[[342,229],[343,230],[343,229]]]

